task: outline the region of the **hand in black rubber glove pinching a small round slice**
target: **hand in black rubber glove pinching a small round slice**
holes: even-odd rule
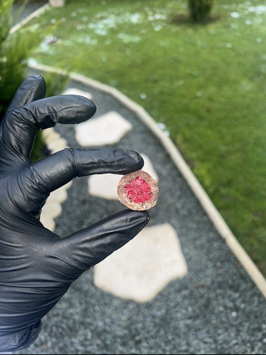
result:
[[[147,211],[123,210],[64,238],[41,224],[49,193],[71,179],[127,174],[144,164],[132,150],[78,148],[32,164],[36,130],[83,122],[96,111],[83,96],[44,98],[45,92],[42,76],[28,76],[0,125],[0,352],[30,346],[41,318],[71,283],[134,238],[149,220]]]

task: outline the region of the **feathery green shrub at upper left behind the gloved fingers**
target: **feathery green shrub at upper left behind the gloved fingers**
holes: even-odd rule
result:
[[[30,35],[25,35],[21,31],[10,32],[15,19],[29,1],[0,0],[0,122],[18,86],[28,75],[27,59],[32,48],[39,43],[39,38],[41,38],[41,35],[34,32]],[[15,2],[19,4],[19,7],[14,13]],[[68,75],[47,74],[45,77],[46,96],[58,94],[68,79]],[[30,158],[36,161],[45,153],[41,132],[37,132]]]

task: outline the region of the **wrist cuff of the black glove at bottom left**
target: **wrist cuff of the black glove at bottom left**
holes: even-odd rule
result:
[[[0,352],[12,352],[28,348],[38,337],[41,321],[17,332],[4,334],[0,332]]]

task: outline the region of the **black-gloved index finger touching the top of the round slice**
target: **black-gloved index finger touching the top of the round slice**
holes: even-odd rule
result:
[[[18,178],[22,191],[20,207],[28,212],[36,204],[42,206],[50,192],[75,177],[108,173],[125,175],[143,165],[142,156],[134,150],[65,148],[21,171]]]

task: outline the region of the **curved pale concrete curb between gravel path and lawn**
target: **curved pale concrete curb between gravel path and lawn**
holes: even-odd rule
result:
[[[66,71],[62,69],[58,69],[46,65],[30,64],[29,67],[40,71],[58,72],[58,73],[66,74]],[[204,208],[205,212],[209,216],[210,220],[213,222],[218,233],[225,240],[230,250],[239,260],[241,265],[244,267],[244,269],[247,271],[247,273],[253,280],[254,284],[258,287],[258,289],[261,291],[261,293],[266,299],[266,280],[264,276],[259,271],[259,269],[254,264],[254,262],[249,257],[249,255],[246,253],[246,251],[241,246],[241,244],[238,242],[237,238],[234,236],[234,234],[226,224],[225,220],[223,219],[223,217],[221,216],[221,214],[219,213],[219,211],[217,210],[217,208],[215,207],[215,205],[213,204],[213,202],[211,201],[211,199],[203,189],[202,185],[196,179],[195,175],[189,168],[188,164],[182,157],[177,147],[174,145],[171,139],[168,138],[163,133],[163,131],[157,126],[153,118],[144,110],[143,107],[141,107],[140,105],[138,105],[137,103],[129,99],[119,90],[110,87],[108,85],[105,85],[103,83],[100,83],[96,80],[85,77],[84,75],[81,74],[70,72],[68,73],[68,75],[70,79],[74,81],[92,86],[97,90],[101,90],[103,92],[106,92],[109,95],[112,95],[121,103],[123,103],[127,108],[132,110],[139,117],[139,119],[146,124],[146,126],[159,139],[161,144],[169,153],[173,163],[176,165],[177,169],[181,172],[184,179],[187,181],[188,185],[190,186],[191,190],[193,191],[193,193],[201,203],[202,207]]]

